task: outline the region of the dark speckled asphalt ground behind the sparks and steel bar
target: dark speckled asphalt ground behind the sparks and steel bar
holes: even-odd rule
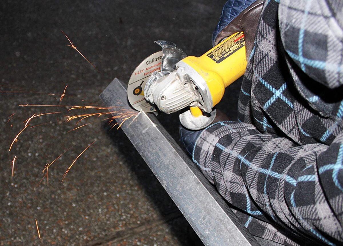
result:
[[[66,85],[61,105],[101,104],[98,95],[115,77],[128,81],[140,61],[159,50],[154,40],[172,41],[200,56],[211,48],[224,3],[0,3],[0,245],[201,245],[120,129],[97,121],[68,132],[76,121],[65,123],[64,115],[96,111],[19,105],[58,105]],[[103,75],[66,46],[61,30]],[[233,118],[237,96],[232,93],[220,105]],[[9,151],[26,119],[54,112],[62,113],[32,118]],[[177,139],[177,115],[159,119]],[[94,141],[61,183],[70,164]],[[67,149],[49,167],[48,181],[38,185],[46,163]]]

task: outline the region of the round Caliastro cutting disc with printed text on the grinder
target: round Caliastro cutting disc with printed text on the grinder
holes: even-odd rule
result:
[[[150,55],[131,74],[128,84],[128,99],[131,106],[138,111],[156,111],[155,105],[144,99],[144,86],[153,72],[161,71],[162,56],[162,51]]]

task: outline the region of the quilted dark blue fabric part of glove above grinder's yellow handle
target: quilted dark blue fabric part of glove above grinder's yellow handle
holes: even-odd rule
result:
[[[216,26],[213,36],[212,44],[214,46],[214,40],[225,26],[232,22],[243,10],[249,7],[256,0],[229,0],[225,3],[218,25]]]

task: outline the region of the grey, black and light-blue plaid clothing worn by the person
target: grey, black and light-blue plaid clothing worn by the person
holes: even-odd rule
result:
[[[232,2],[232,1],[230,1]],[[343,243],[343,2],[264,3],[238,102],[193,161],[256,236]]]

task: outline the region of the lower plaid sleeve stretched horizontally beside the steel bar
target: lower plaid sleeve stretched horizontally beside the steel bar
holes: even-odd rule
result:
[[[250,124],[222,121],[201,133],[193,160],[247,220],[274,224],[313,242],[343,242],[343,133],[329,147],[298,146]],[[272,240],[264,235],[267,228],[250,229]]]

